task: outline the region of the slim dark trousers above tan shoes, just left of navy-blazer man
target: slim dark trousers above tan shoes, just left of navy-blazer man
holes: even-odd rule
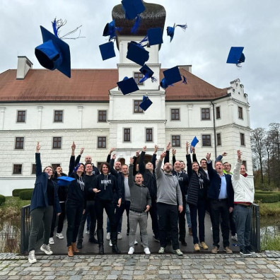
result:
[[[199,242],[204,242],[205,238],[205,227],[204,227],[204,218],[205,218],[205,201],[204,199],[199,199],[197,205],[189,204],[189,211],[192,221],[192,238],[194,244]],[[197,238],[197,216],[199,220],[199,239]]]

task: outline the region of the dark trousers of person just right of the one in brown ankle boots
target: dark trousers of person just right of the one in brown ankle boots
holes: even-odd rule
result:
[[[83,231],[85,229],[85,223],[86,219],[88,217],[88,214],[91,217],[90,221],[90,235],[89,238],[94,238],[94,232],[95,232],[95,223],[96,223],[96,214],[95,214],[95,201],[94,200],[88,200],[86,202],[86,212],[83,214],[81,218],[81,223],[78,228],[78,241],[83,242]]]

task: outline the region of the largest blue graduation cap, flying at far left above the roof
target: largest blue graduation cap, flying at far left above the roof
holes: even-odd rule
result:
[[[71,78],[69,45],[42,26],[40,28],[43,43],[35,47],[35,56],[38,62],[46,69],[57,69]]]

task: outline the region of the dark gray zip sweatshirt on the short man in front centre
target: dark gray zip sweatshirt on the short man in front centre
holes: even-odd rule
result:
[[[133,178],[133,165],[129,165],[129,189],[130,189],[130,209],[145,211],[146,206],[151,207],[151,197],[148,188],[144,185],[137,185]]]

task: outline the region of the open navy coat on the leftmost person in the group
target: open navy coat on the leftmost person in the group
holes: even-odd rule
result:
[[[36,181],[30,202],[30,212],[37,208],[49,206],[47,200],[47,180],[49,180],[49,175],[47,175],[47,173],[45,172],[42,172],[40,153],[35,153],[35,161]],[[59,198],[57,195],[57,184],[54,181],[52,182],[54,184],[54,211],[56,211],[57,213],[61,213],[62,210],[60,209]]]

